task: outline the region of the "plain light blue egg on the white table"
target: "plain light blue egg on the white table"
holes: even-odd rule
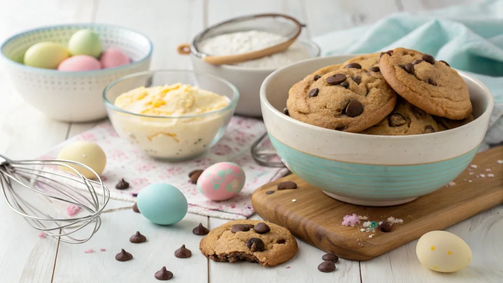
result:
[[[136,197],[141,214],[155,224],[170,225],[179,222],[187,214],[187,198],[170,184],[151,184]]]

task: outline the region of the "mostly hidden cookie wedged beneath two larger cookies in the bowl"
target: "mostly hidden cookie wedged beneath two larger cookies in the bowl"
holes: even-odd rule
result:
[[[376,125],[361,131],[376,135],[412,135],[443,130],[432,115],[408,103],[403,98],[396,100],[395,109]]]

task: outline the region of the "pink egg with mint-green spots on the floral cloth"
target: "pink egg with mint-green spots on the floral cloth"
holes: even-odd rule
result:
[[[226,200],[241,191],[245,179],[241,166],[220,162],[204,170],[197,180],[197,188],[211,200]]]

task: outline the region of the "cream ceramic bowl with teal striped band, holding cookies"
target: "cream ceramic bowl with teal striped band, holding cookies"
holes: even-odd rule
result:
[[[480,81],[459,72],[475,120],[458,128],[408,136],[347,133],[282,113],[288,90],[306,74],[354,55],[313,58],[272,73],[262,84],[262,114],[285,165],[307,183],[341,201],[371,206],[409,202],[433,192],[470,164],[487,130],[493,97]]]

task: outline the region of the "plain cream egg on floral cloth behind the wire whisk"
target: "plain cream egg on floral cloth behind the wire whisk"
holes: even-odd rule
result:
[[[74,161],[83,165],[87,165],[98,175],[101,175],[101,173],[103,173],[105,165],[107,164],[107,156],[105,155],[105,152],[103,152],[103,150],[100,148],[100,146],[94,143],[81,141],[72,143],[64,147],[59,152],[58,159]],[[96,175],[86,168],[71,164],[68,165],[80,172],[80,174],[82,174],[86,178],[96,178]],[[64,166],[59,166],[59,169],[75,173],[73,170]]]

